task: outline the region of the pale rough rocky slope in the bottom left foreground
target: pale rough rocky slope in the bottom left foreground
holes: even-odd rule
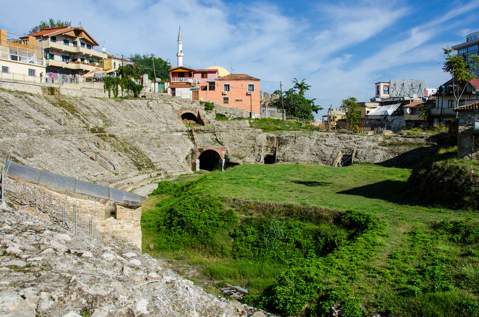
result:
[[[271,316],[204,292],[125,242],[0,207],[0,316]]]

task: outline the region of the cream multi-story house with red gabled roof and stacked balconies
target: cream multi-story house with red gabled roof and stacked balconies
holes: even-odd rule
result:
[[[98,42],[81,26],[44,28],[28,37],[35,38],[37,56],[46,60],[46,72],[83,75],[107,58],[105,52],[94,49]]]

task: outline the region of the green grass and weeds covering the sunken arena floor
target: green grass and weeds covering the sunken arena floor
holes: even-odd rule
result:
[[[478,316],[477,211],[420,204],[410,175],[367,163],[244,164],[163,184],[160,204],[144,209],[143,245],[247,288],[248,304],[280,315],[324,316],[341,304],[345,316]],[[185,211],[198,194],[224,211]],[[217,222],[201,218],[207,209]],[[186,225],[165,225],[172,214]],[[210,236],[175,229],[192,226]]]

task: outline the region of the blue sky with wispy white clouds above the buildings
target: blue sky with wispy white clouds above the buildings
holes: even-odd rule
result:
[[[176,66],[178,27],[183,64],[216,63],[261,79],[272,92],[305,78],[324,108],[353,96],[367,101],[374,83],[424,79],[438,87],[442,47],[479,30],[479,0],[254,1],[82,0],[7,1],[0,28],[23,34],[52,17],[81,25],[107,52],[155,54]],[[80,4],[81,3],[81,4]],[[100,49],[101,47],[98,47]],[[321,112],[325,113],[325,110]]]

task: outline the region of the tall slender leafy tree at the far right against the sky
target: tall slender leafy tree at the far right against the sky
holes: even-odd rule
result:
[[[459,99],[466,90],[466,86],[476,78],[473,71],[479,66],[479,56],[468,56],[468,60],[465,60],[460,55],[451,54],[454,49],[449,46],[444,47],[443,50],[446,56],[443,70],[451,74],[454,99],[456,99],[456,105],[459,105]]]

